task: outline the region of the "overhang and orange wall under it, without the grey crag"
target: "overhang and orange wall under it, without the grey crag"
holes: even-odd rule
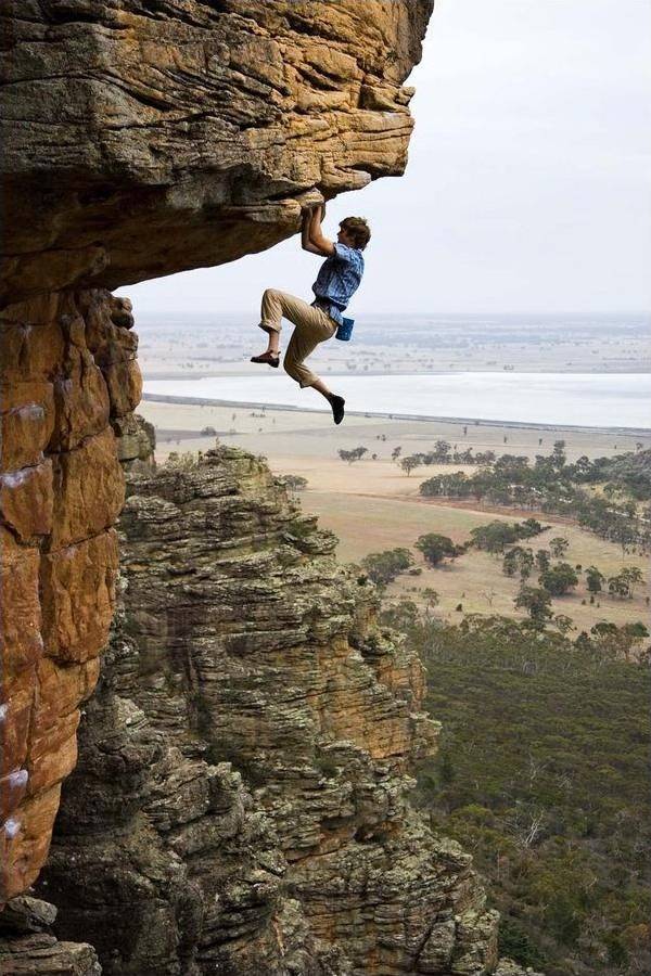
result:
[[[2,4],[0,903],[42,865],[141,437],[122,285],[268,247],[398,174],[429,0]]]

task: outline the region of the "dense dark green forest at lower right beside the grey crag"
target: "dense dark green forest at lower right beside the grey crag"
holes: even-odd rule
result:
[[[487,878],[500,952],[548,976],[650,972],[648,668],[529,621],[408,602],[384,619],[443,722],[417,801]]]

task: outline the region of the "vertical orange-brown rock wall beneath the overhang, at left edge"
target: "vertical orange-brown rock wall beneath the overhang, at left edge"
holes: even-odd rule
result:
[[[124,476],[111,415],[124,397],[112,404],[88,342],[104,329],[107,344],[133,348],[113,316],[124,320],[124,303],[89,292],[0,318],[0,901],[46,857],[113,617]]]

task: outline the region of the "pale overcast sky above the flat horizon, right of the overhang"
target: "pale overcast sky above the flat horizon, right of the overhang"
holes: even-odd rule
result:
[[[350,312],[651,308],[650,0],[437,0],[409,84],[400,179],[344,194],[372,227]],[[251,311],[308,297],[298,237],[131,285],[136,312]]]

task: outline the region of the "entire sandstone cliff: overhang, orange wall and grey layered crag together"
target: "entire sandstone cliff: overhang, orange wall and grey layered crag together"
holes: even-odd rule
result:
[[[430,0],[8,0],[1,973],[483,973],[469,858],[409,809],[435,729],[264,464],[146,467],[128,303],[401,172]],[[16,896],[16,897],[14,897]]]

